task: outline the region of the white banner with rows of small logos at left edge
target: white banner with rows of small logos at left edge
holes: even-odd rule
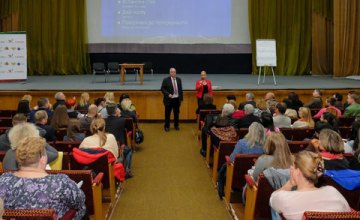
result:
[[[25,32],[0,32],[0,81],[27,79]]]

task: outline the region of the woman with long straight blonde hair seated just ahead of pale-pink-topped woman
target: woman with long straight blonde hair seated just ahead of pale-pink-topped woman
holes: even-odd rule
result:
[[[292,155],[285,136],[282,133],[271,132],[264,145],[265,154],[260,156],[254,166],[252,177],[257,180],[259,174],[269,167],[289,169]]]

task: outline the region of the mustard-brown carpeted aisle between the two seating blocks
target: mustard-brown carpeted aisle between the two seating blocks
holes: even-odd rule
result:
[[[133,156],[135,176],[112,219],[231,219],[199,154],[195,127],[183,123],[166,133],[161,123],[141,124],[145,141]]]

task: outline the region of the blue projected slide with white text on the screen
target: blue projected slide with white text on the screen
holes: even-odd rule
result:
[[[229,37],[231,0],[103,0],[104,37]]]

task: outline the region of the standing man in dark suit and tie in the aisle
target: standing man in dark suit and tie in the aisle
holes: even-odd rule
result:
[[[180,105],[183,100],[183,90],[181,79],[176,77],[176,69],[170,68],[170,76],[166,77],[161,85],[161,92],[164,95],[163,102],[165,105],[165,131],[170,129],[170,115],[174,111],[174,127],[179,130],[179,113]]]

